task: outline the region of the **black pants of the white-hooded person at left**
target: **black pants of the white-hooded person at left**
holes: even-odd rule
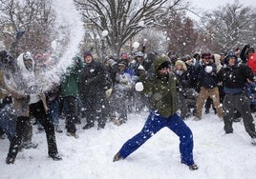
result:
[[[44,127],[46,132],[46,138],[48,143],[48,154],[57,154],[57,146],[55,141],[55,133],[53,122],[51,118],[48,117],[45,109],[43,107],[42,101],[30,105],[30,113],[33,115]],[[18,116],[16,121],[16,134],[11,141],[8,156],[15,158],[18,153],[19,146],[21,144],[22,138],[24,137],[24,130],[30,128],[30,117]]]

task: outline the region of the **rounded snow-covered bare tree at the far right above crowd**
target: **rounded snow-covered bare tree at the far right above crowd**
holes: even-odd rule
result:
[[[244,44],[255,45],[255,10],[239,3],[226,4],[205,13],[204,34],[218,44],[219,50],[230,50]],[[215,50],[218,50],[215,49]]]

